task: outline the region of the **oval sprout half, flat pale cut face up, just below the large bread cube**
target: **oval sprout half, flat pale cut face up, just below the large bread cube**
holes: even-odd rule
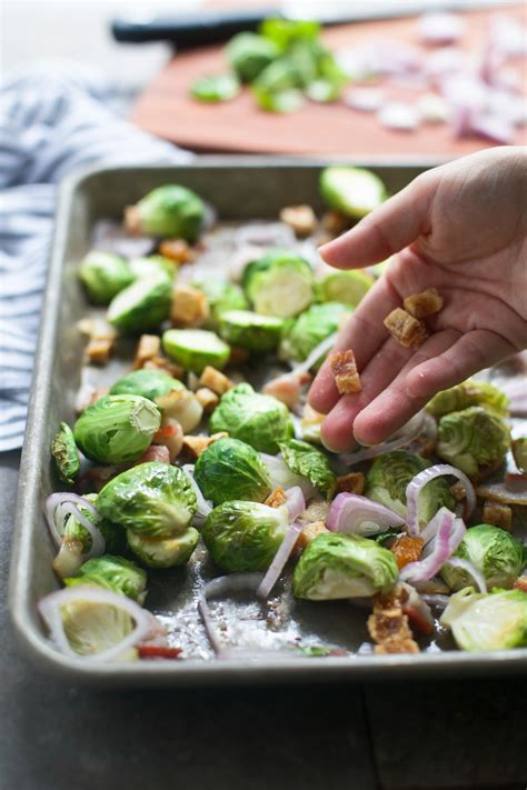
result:
[[[168,329],[162,347],[170,359],[195,373],[201,373],[208,364],[221,370],[230,354],[227,343],[203,329]]]

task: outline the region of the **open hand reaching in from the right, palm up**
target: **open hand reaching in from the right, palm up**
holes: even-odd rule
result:
[[[385,441],[436,392],[527,347],[526,233],[527,154],[510,147],[425,172],[320,249],[337,269],[394,256],[335,347],[354,350],[361,392],[339,396],[327,362],[312,383],[329,449]],[[422,346],[406,349],[382,321],[431,286],[444,308]]]

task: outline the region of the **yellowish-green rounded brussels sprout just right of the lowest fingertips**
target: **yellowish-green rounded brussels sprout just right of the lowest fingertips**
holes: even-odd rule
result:
[[[437,454],[470,478],[497,467],[509,448],[510,430],[505,420],[479,406],[453,411],[439,420]]]

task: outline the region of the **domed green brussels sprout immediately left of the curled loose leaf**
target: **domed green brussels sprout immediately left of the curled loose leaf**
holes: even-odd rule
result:
[[[195,480],[215,504],[232,499],[262,502],[271,492],[269,472],[259,453],[238,439],[220,439],[199,456]]]

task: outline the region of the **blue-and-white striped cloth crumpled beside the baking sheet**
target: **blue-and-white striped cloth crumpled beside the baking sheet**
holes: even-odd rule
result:
[[[116,102],[102,74],[72,63],[0,88],[0,451],[22,444],[58,182],[87,163],[191,157],[120,119]]]

